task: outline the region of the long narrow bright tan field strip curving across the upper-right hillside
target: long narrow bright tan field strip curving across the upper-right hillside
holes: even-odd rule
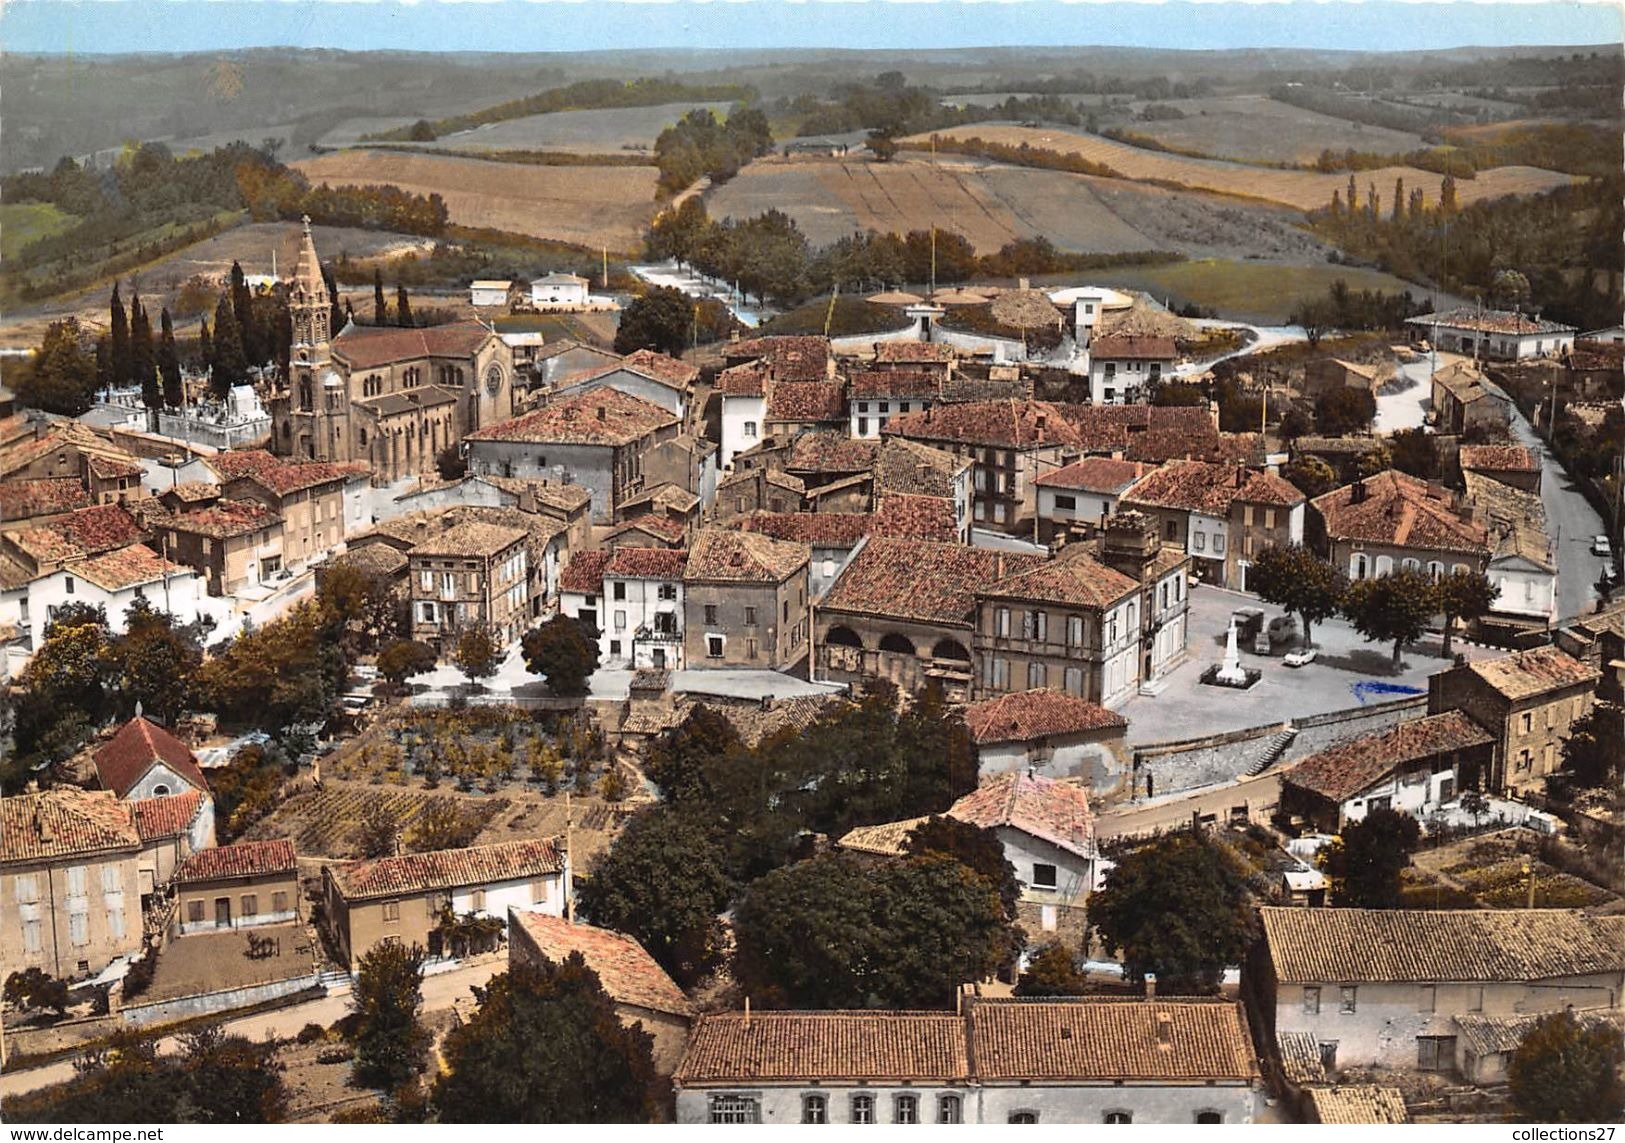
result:
[[[1250,167],[1240,163],[1220,163],[1216,159],[1188,159],[1180,154],[1147,151],[1108,138],[1086,135],[1082,132],[1063,132],[1043,127],[1012,127],[1008,124],[972,124],[939,132],[942,138],[982,138],[990,143],[1020,146],[1027,143],[1034,148],[1079,154],[1090,163],[1103,163],[1128,179],[1142,182],[1180,184],[1201,190],[1214,190],[1227,195],[1246,198],[1264,198],[1279,202],[1298,210],[1315,210],[1331,202],[1331,192],[1347,185],[1349,177],[1342,174],[1316,174],[1313,171],[1272,171],[1268,167]],[[930,146],[928,135],[913,135],[904,140],[905,145]],[[1363,197],[1368,182],[1376,184],[1378,193],[1393,193],[1394,179],[1404,179],[1407,187],[1422,187],[1427,202],[1438,202],[1440,177],[1415,167],[1380,167],[1362,171],[1358,176],[1360,193]],[[1484,171],[1477,179],[1458,182],[1456,195],[1462,203],[1479,198],[1500,198],[1502,195],[1528,195],[1552,190],[1571,179],[1555,171],[1539,167],[1497,167]]]

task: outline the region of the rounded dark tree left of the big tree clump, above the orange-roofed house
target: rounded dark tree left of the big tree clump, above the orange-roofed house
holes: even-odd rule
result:
[[[722,849],[700,823],[660,806],[644,810],[580,883],[595,925],[637,940],[681,987],[722,963],[730,883]]]

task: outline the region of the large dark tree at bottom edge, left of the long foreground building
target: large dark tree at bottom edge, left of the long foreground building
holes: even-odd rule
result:
[[[518,964],[476,987],[445,1037],[442,1123],[647,1123],[663,1102],[642,1024],[626,1026],[580,953]]]

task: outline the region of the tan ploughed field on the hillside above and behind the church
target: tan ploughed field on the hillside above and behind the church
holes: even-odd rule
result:
[[[634,250],[655,215],[655,167],[546,167],[481,159],[338,151],[294,163],[312,182],[385,182],[437,193],[453,223],[611,250]]]

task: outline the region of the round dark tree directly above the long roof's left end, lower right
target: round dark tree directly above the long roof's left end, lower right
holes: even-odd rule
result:
[[[1246,951],[1251,901],[1235,857],[1178,832],[1121,857],[1089,899],[1089,922],[1129,980],[1154,972],[1159,992],[1211,993]]]

